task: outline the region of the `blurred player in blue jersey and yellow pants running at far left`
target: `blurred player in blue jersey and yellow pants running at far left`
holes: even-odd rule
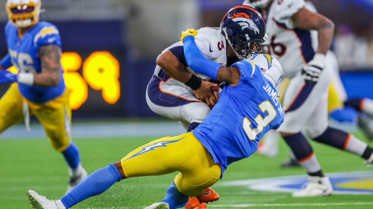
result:
[[[9,53],[0,61],[0,83],[14,83],[0,99],[0,133],[34,115],[50,144],[69,165],[68,191],[87,177],[71,141],[69,90],[62,77],[61,38],[51,23],[39,21],[40,0],[7,0],[5,36]],[[6,71],[15,66],[18,74]]]

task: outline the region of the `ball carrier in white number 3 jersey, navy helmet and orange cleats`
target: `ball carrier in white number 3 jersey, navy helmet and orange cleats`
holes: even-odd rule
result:
[[[251,54],[261,53],[258,43],[266,40],[264,19],[257,10],[248,6],[236,6],[229,10],[220,28],[201,28],[197,31],[195,43],[203,55],[224,67]],[[217,102],[218,96],[211,93],[210,87],[224,83],[189,68],[182,42],[166,48],[156,63],[146,92],[148,106],[158,115],[179,121],[188,132],[193,130]],[[208,188],[197,199],[194,202],[211,202],[218,200],[219,195]],[[186,209],[206,207],[191,202],[192,199],[185,206]]]

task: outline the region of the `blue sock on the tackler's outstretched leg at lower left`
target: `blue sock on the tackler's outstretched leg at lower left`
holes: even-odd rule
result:
[[[122,180],[114,164],[91,173],[81,183],[76,185],[69,193],[61,198],[62,204],[67,208],[82,202],[88,197],[101,194],[115,182]]]

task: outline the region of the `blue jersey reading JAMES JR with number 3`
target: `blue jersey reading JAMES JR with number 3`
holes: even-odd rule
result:
[[[253,154],[260,138],[278,129],[285,115],[276,89],[258,65],[238,61],[232,67],[241,73],[239,83],[225,84],[214,108],[192,131],[220,164],[222,175],[229,164]]]

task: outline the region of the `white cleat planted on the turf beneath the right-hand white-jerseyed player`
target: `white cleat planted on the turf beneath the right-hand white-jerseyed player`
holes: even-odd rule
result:
[[[333,186],[328,177],[309,176],[306,187],[292,194],[293,197],[315,197],[332,194]]]

